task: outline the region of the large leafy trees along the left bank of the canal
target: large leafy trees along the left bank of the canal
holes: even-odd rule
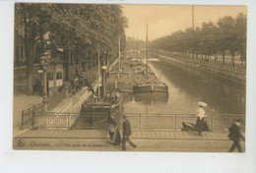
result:
[[[125,48],[125,28],[127,19],[119,5],[17,3],[15,33],[24,41],[30,92],[35,54],[32,47],[39,45],[39,54],[43,54],[45,34],[51,49],[63,48],[68,70],[72,57],[83,67],[98,52],[116,57],[119,37],[121,50]]]

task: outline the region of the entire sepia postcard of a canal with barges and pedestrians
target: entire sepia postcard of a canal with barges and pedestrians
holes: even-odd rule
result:
[[[14,10],[14,149],[245,152],[246,6]]]

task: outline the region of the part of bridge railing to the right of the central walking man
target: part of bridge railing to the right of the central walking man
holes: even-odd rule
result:
[[[131,122],[133,129],[168,129],[171,131],[180,131],[182,122],[196,124],[195,114],[126,114]],[[206,118],[211,131],[227,131],[227,128],[237,119],[245,122],[244,115],[210,115]]]

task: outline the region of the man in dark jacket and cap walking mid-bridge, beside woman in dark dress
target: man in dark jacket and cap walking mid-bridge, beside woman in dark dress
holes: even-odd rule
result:
[[[126,115],[123,115],[123,119],[124,119],[124,122],[123,122],[122,149],[126,150],[126,142],[131,144],[131,146],[133,146],[133,147],[136,147],[136,144],[133,144],[129,138],[132,135],[130,121],[127,119]]]

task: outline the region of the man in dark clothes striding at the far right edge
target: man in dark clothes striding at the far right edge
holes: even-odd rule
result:
[[[245,139],[244,139],[243,135],[240,132],[241,131],[240,126],[241,126],[241,119],[237,119],[231,125],[231,127],[229,127],[229,129],[228,129],[228,131],[229,131],[228,138],[233,142],[233,144],[231,145],[228,152],[232,152],[235,147],[237,147],[239,152],[242,152],[241,144],[240,144],[239,141],[240,141],[240,139],[245,141]]]

